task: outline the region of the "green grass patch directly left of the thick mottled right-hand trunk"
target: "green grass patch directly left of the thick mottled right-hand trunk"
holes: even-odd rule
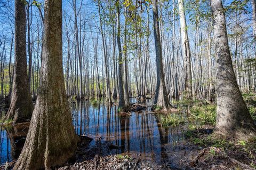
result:
[[[190,109],[193,119],[198,120],[201,124],[211,124],[215,125],[216,115],[217,115],[217,106],[215,105],[202,105],[202,106],[193,106]]]

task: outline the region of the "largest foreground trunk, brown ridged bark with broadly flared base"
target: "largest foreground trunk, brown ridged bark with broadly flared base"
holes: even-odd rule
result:
[[[49,169],[72,157],[77,136],[72,125],[62,68],[62,1],[45,1],[44,39],[36,107],[14,169]]]

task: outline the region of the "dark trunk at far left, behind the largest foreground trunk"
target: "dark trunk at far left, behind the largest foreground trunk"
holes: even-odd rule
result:
[[[4,120],[13,119],[13,124],[27,121],[33,112],[33,103],[28,86],[26,58],[26,11],[22,0],[15,1],[15,54],[13,91],[10,108]]]

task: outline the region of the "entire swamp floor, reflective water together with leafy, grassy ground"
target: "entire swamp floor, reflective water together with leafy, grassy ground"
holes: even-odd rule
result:
[[[60,169],[95,169],[95,165],[97,169],[256,168],[256,142],[214,137],[214,105],[179,104],[183,111],[169,114],[151,112],[152,100],[143,105],[146,110],[118,114],[115,104],[103,100],[70,102],[82,142],[75,158]],[[5,111],[0,114],[3,117]],[[28,126],[0,126],[1,165],[19,157]]]

